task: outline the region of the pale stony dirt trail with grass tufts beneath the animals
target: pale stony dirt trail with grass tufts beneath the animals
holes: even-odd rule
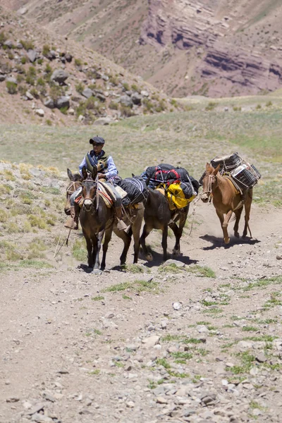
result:
[[[59,262],[50,247],[54,269],[1,274],[0,422],[281,422],[281,210],[253,204],[250,228],[223,247],[197,202],[185,267],[159,266],[156,231],[154,262],[132,271],[113,236],[103,274],[77,269],[71,246]]]

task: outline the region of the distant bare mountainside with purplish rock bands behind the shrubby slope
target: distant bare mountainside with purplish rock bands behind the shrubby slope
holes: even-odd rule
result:
[[[78,0],[13,0],[6,5],[174,97],[257,94],[281,87],[282,6],[277,0],[87,0],[82,5]]]

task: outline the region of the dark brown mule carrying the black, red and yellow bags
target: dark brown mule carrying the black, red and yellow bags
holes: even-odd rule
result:
[[[142,250],[145,253],[147,260],[152,261],[152,254],[148,252],[145,239],[152,231],[152,229],[161,229],[162,239],[161,246],[164,251],[164,261],[167,259],[167,236],[168,227],[173,230],[176,237],[176,245],[173,248],[173,255],[180,253],[180,238],[183,233],[185,221],[188,216],[189,205],[183,209],[170,210],[168,200],[159,192],[159,190],[152,190],[148,188],[149,196],[145,204],[144,220],[145,225],[140,238]],[[179,221],[178,226],[176,222]]]

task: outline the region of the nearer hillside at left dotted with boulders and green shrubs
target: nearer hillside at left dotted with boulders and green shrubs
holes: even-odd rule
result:
[[[107,124],[173,111],[171,102],[91,49],[0,8],[0,122]]]

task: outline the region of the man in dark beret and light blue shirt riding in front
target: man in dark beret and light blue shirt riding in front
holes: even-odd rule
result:
[[[123,231],[127,229],[128,226],[125,225],[125,223],[123,223],[123,221],[121,220],[121,196],[118,194],[118,191],[114,188],[114,185],[111,183],[111,180],[113,180],[118,175],[116,165],[114,164],[113,158],[111,156],[107,157],[104,152],[104,138],[92,137],[90,138],[89,142],[92,145],[92,150],[90,150],[90,152],[85,155],[84,159],[82,160],[79,166],[80,175],[82,176],[82,168],[86,168],[89,173],[92,173],[94,166],[97,167],[97,178],[99,180],[104,180],[106,186],[109,187],[111,200],[114,202],[117,228],[120,231]],[[78,205],[78,202],[81,190],[82,188],[80,187],[76,189],[75,192],[73,192],[73,195],[71,195],[71,216],[68,217],[64,225],[66,228],[74,230],[78,229],[78,216],[80,213],[80,207]]]

